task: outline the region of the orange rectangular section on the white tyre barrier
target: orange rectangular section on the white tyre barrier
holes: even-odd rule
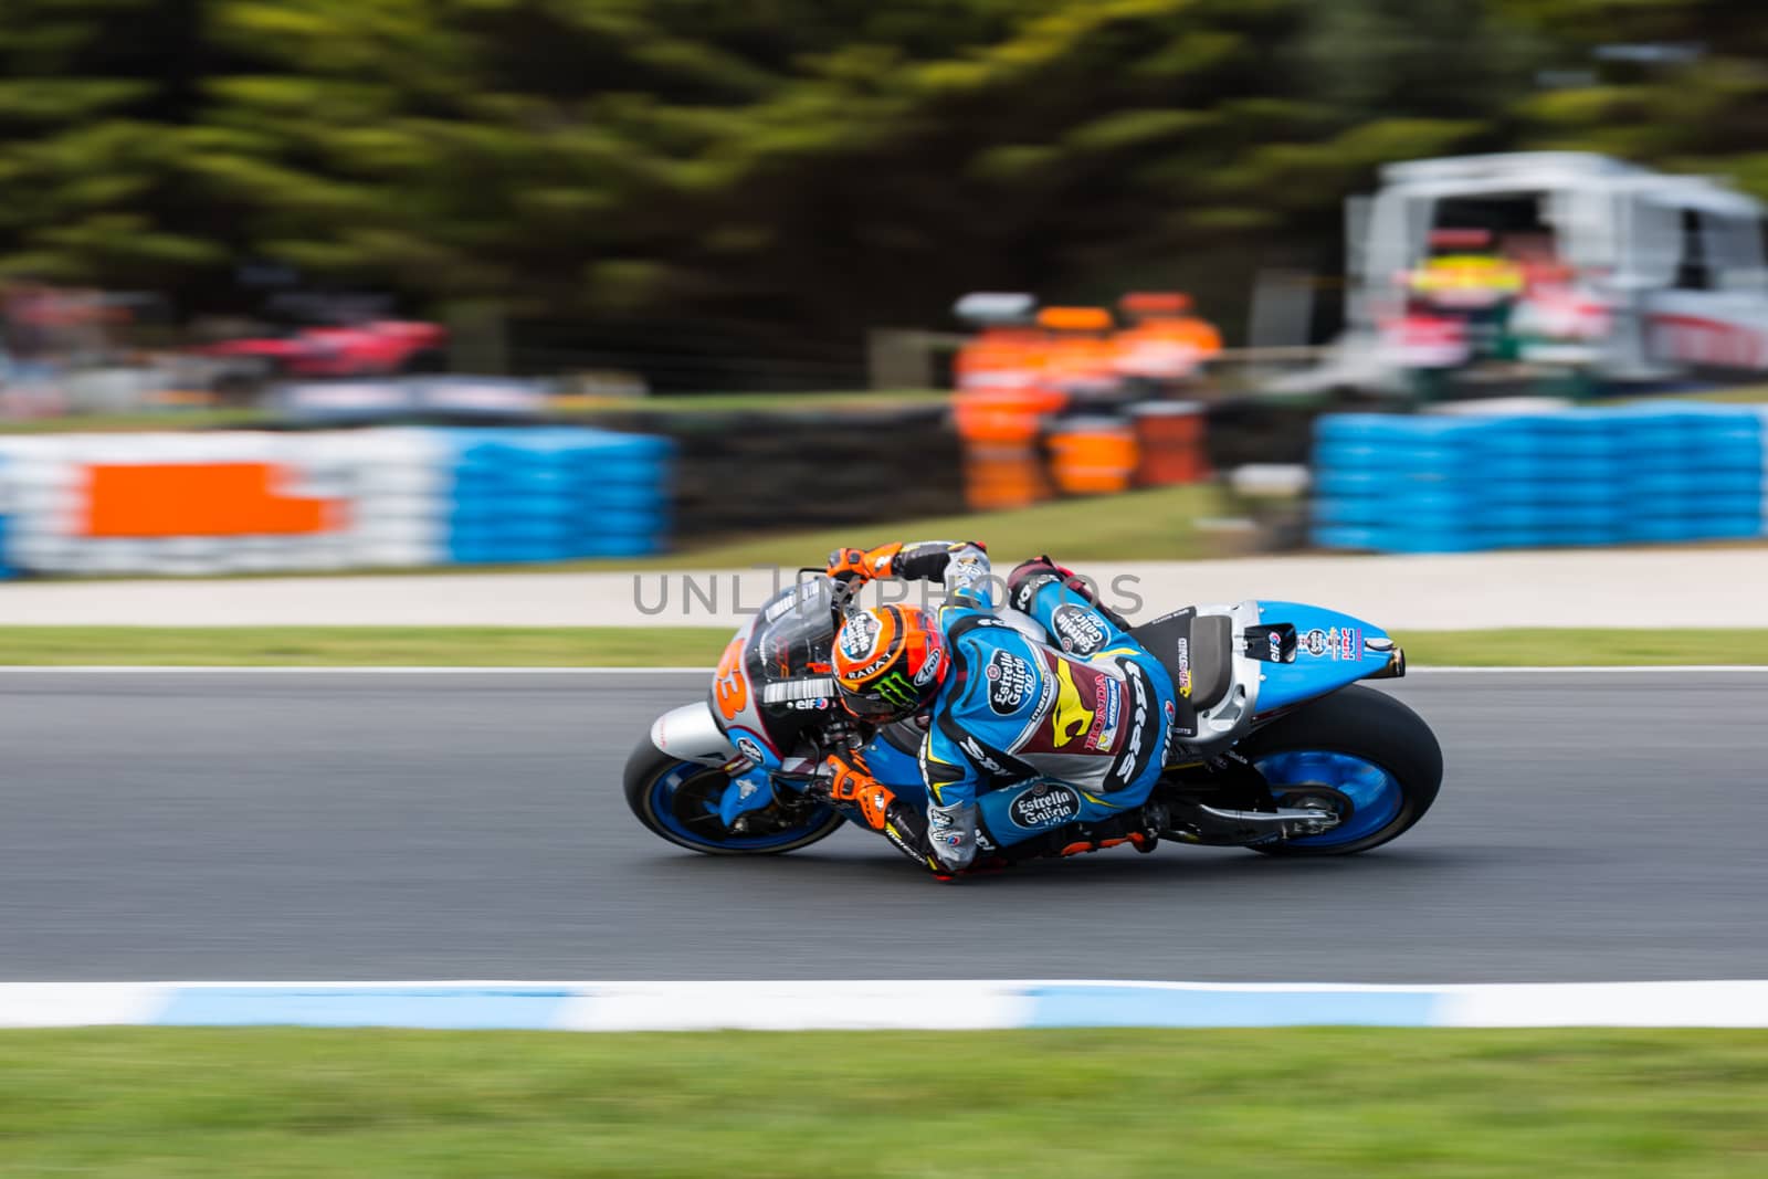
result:
[[[304,536],[343,523],[338,500],[283,495],[274,463],[87,467],[90,537]]]

